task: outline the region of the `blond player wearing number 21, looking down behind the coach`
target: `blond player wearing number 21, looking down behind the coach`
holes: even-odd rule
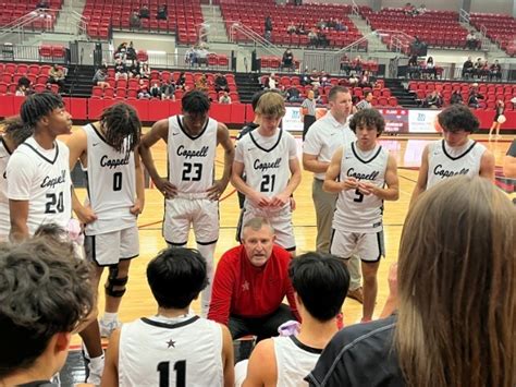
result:
[[[285,116],[281,95],[263,94],[255,113],[260,126],[238,142],[233,162],[232,183],[246,196],[242,223],[255,217],[269,219],[275,243],[294,253],[291,195],[300,182],[297,144],[288,132],[278,128]],[[244,173],[246,181],[242,179]]]

